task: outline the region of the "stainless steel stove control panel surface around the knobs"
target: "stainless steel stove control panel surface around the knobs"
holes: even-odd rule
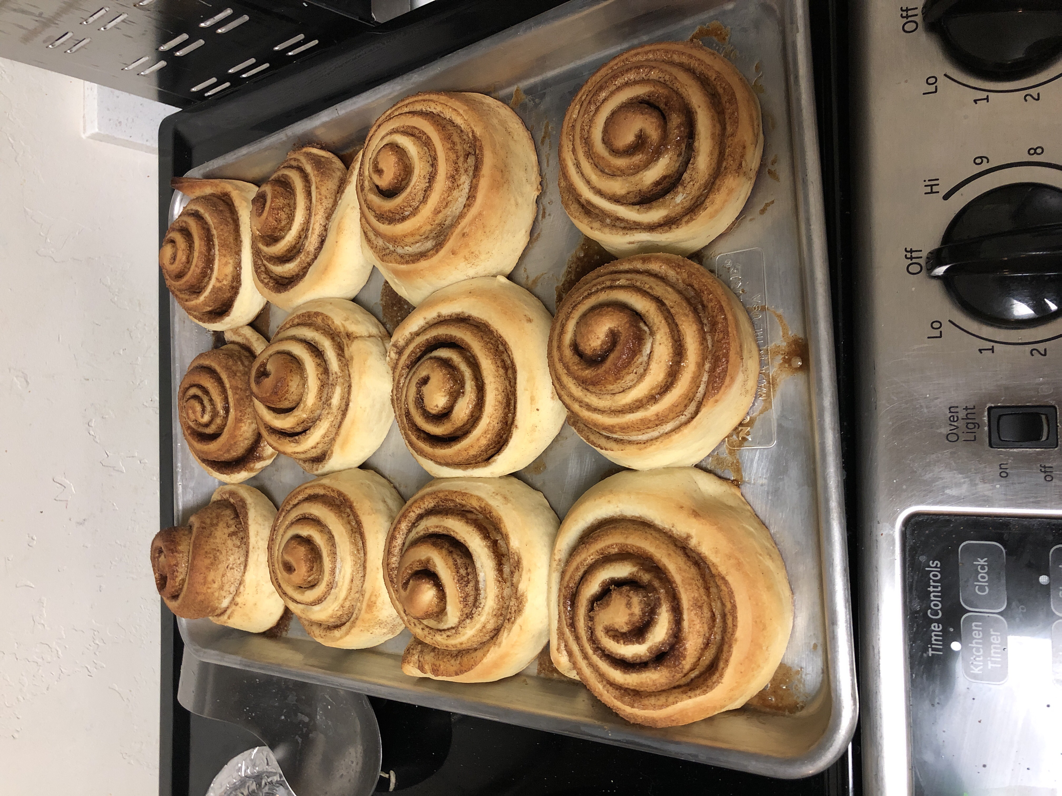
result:
[[[918,6],[853,7],[863,768],[867,791],[890,795],[912,789],[905,519],[1062,514],[1059,449],[994,449],[986,428],[989,406],[1059,404],[1062,321],[1025,330],[980,323],[928,277],[925,258],[981,193],[1023,181],[1062,188],[1062,63],[986,81],[926,28]],[[1062,703],[1062,687],[1048,680],[1044,690]],[[1014,751],[1009,743],[996,739],[998,761]],[[1052,765],[998,765],[983,785],[1054,789]]]

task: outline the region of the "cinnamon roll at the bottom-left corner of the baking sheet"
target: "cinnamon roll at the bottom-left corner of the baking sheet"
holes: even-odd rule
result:
[[[251,486],[220,486],[182,527],[151,541],[155,587],[171,611],[262,633],[279,622],[284,602],[266,563],[276,509]]]

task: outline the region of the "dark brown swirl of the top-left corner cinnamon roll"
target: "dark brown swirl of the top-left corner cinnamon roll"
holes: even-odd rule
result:
[[[166,287],[194,321],[216,324],[240,292],[240,220],[225,196],[191,200],[162,239],[158,264]]]

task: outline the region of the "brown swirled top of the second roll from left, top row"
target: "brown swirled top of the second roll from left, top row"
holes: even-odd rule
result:
[[[284,293],[306,276],[328,236],[346,168],[314,146],[292,151],[251,203],[255,276]]]

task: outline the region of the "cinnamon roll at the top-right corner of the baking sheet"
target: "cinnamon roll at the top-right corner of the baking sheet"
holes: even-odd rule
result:
[[[688,255],[722,233],[764,151],[759,101],[696,41],[644,45],[598,69],[561,127],[561,202],[617,257]]]

